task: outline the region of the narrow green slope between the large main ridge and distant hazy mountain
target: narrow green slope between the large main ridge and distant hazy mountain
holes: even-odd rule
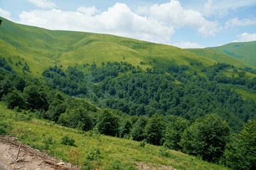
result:
[[[251,67],[253,69],[256,68],[250,64],[246,64],[245,62],[238,60],[237,58],[235,58],[231,55],[225,54],[225,52],[220,52],[217,50],[213,50],[211,48],[203,48],[203,49],[193,48],[193,49],[186,49],[186,50],[188,50],[190,52],[194,52],[197,55],[201,55],[202,57],[206,57],[211,60],[215,60],[216,62],[224,62],[227,64],[232,64],[235,67],[239,67],[239,68]]]

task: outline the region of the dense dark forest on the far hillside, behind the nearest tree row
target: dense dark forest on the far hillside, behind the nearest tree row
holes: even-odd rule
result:
[[[216,113],[235,132],[242,130],[248,119],[255,119],[255,102],[251,98],[243,100],[234,86],[243,82],[239,83],[240,89],[256,93],[256,78],[247,79],[244,72],[228,64],[203,68],[207,79],[196,72],[186,72],[189,69],[183,65],[170,66],[166,74],[162,68],[142,71],[127,63],[108,62],[101,67],[92,64],[87,74],[78,67],[49,67],[43,76],[48,86],[65,94],[87,98],[100,108],[118,109],[129,115],[151,117],[157,113],[195,121]],[[234,70],[233,77],[223,74],[228,69]],[[226,81],[220,81],[220,77]]]

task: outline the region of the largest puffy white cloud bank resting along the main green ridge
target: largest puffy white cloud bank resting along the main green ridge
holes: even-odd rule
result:
[[[80,7],[77,11],[52,10],[23,11],[20,21],[31,26],[53,30],[79,30],[108,33],[139,40],[167,43],[174,33],[172,26],[133,13],[126,4],[115,4],[100,13],[95,7]]]

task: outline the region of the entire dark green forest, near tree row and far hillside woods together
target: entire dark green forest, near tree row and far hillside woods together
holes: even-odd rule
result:
[[[230,69],[228,77],[224,71]],[[204,67],[206,77],[190,71],[183,65],[143,71],[107,62],[49,67],[41,81],[4,69],[0,98],[18,119],[43,118],[137,140],[142,147],[163,145],[233,169],[255,169],[256,105],[235,88],[255,93],[256,79],[220,63]]]

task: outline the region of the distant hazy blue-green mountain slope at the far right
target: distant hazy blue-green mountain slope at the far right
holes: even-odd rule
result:
[[[231,55],[242,62],[256,67],[256,41],[233,42],[220,47],[210,47],[209,49]]]

